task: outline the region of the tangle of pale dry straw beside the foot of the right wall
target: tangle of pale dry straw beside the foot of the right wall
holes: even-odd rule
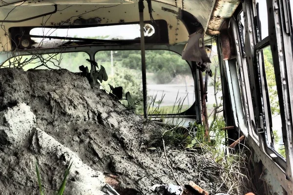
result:
[[[244,145],[239,153],[225,154],[225,151],[219,151],[210,147],[204,142],[198,142],[201,148],[201,155],[194,156],[198,164],[215,167],[220,174],[209,173],[209,176],[220,178],[221,185],[214,193],[226,193],[229,195],[243,195],[248,192],[255,192],[251,179],[251,169],[249,162],[251,160],[251,151]],[[227,150],[228,151],[228,150]]]

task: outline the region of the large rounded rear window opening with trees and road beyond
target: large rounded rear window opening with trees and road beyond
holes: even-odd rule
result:
[[[140,51],[99,51],[95,55],[108,73],[102,83],[122,86],[124,94],[129,91],[132,98],[142,99],[142,74]],[[194,80],[188,63],[181,56],[167,50],[146,51],[146,82],[148,115],[180,114],[195,101]],[[136,113],[143,114],[143,105]],[[161,119],[161,118],[157,118]]]

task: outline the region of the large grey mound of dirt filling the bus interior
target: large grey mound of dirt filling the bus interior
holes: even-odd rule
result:
[[[36,162],[46,194],[56,191],[70,159],[66,194],[103,195],[108,183],[121,195],[151,195],[155,184],[176,184],[164,150],[148,150],[162,127],[78,74],[0,69],[0,117],[1,195],[39,194]],[[196,153],[166,153],[181,184],[193,180],[209,192],[221,186],[209,176],[219,170],[196,163]]]

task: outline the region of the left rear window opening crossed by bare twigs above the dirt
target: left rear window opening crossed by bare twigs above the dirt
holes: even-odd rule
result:
[[[86,61],[89,55],[85,52],[70,52],[43,55],[22,55],[16,56],[5,61],[1,68],[22,68],[24,71],[29,69],[67,69],[73,73],[79,73],[79,66],[90,64]]]

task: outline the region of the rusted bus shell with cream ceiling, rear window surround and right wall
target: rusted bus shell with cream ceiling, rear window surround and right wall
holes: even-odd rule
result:
[[[139,24],[140,0],[0,1],[0,62],[23,55],[141,50],[141,39],[87,39],[31,35],[35,28],[78,29]],[[149,14],[148,3],[152,5]],[[265,6],[264,6],[264,3]],[[258,4],[260,3],[260,4]],[[260,6],[262,5],[262,6]],[[289,0],[151,0],[144,1],[144,23],[154,34],[146,50],[182,55],[194,80],[195,101],[181,117],[205,121],[202,72],[209,63],[205,45],[216,43],[229,143],[245,136],[252,151],[255,177],[264,194],[293,194],[293,5]],[[261,18],[260,13],[267,13]],[[267,21],[265,21],[267,20]],[[265,25],[267,23],[267,25]],[[267,34],[263,34],[262,32]],[[192,35],[192,36],[191,36]],[[33,38],[46,39],[35,42]],[[50,40],[47,40],[50,39]],[[59,43],[59,44],[56,44]],[[286,157],[273,146],[272,116],[263,49],[272,52]],[[173,115],[170,115],[173,116]]]

